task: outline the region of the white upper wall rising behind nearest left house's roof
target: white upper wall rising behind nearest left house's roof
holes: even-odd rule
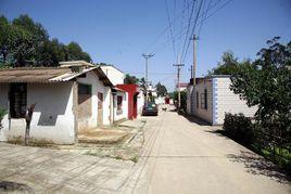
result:
[[[114,86],[124,83],[125,75],[119,69],[111,65],[101,66],[101,69]]]

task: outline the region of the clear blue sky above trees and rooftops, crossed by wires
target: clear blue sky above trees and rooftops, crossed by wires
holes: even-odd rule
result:
[[[219,8],[227,0],[213,0],[212,4],[216,2]],[[181,12],[184,0],[167,0],[167,4],[172,21]],[[168,26],[164,0],[0,0],[0,14],[9,20],[24,13],[41,23],[51,38],[63,43],[77,41],[94,62],[114,64],[138,77],[144,73],[141,54],[154,53],[149,61],[150,80],[174,89],[173,63],[177,62],[177,54],[170,31],[166,30],[153,43]],[[172,24],[174,34],[179,33],[180,25],[181,18]],[[203,23],[198,43],[198,76],[206,75],[228,50],[240,60],[255,59],[256,52],[274,36],[280,36],[281,42],[291,40],[290,0],[230,1]],[[176,37],[176,50],[185,38]],[[181,79],[188,81],[192,43],[184,63]]]

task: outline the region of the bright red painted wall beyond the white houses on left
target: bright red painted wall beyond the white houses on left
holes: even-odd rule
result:
[[[138,86],[137,85],[117,85],[117,88],[127,91],[128,93],[128,118],[135,119],[138,116],[138,106],[137,106],[137,95],[138,95]]]

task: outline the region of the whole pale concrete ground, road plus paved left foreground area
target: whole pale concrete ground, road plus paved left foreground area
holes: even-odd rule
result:
[[[0,143],[0,189],[31,193],[291,193],[288,178],[240,144],[175,112],[142,117],[137,164]],[[0,190],[1,193],[1,190]]]

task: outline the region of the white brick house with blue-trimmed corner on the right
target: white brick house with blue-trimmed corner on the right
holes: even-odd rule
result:
[[[223,125],[226,113],[242,113],[253,117],[256,107],[249,107],[246,102],[230,90],[230,76],[214,75],[197,78],[195,87],[188,87],[187,112],[212,125]]]

